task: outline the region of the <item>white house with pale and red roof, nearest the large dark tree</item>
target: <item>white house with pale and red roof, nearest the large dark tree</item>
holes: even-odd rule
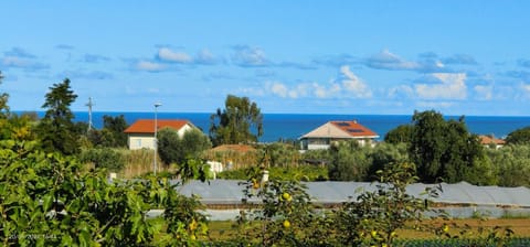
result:
[[[372,144],[379,136],[357,121],[328,121],[301,136],[303,150],[328,149],[337,141],[357,140],[359,144]]]

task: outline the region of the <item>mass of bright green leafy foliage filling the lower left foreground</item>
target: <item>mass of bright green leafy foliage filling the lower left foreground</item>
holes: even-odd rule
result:
[[[195,212],[200,203],[178,194],[180,184],[153,176],[109,182],[100,169],[83,173],[75,157],[41,150],[26,118],[2,124],[3,246],[194,246],[208,232],[205,217]],[[194,172],[180,174],[183,181],[201,176]],[[148,219],[155,208],[169,208],[163,221]]]

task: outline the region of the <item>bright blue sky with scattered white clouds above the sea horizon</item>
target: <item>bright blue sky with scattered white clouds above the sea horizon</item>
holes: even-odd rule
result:
[[[529,1],[8,1],[0,90],[42,110],[530,116]]]

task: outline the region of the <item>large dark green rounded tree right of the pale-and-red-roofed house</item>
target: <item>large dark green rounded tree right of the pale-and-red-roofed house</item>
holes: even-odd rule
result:
[[[410,155],[417,164],[422,182],[433,183],[443,180],[448,183],[478,180],[475,169],[480,170],[484,161],[483,147],[476,135],[468,132],[464,117],[445,120],[442,114],[415,112]]]

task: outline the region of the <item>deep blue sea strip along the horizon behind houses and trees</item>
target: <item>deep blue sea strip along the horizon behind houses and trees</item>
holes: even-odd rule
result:
[[[36,112],[43,116],[44,112]],[[88,122],[87,111],[75,111],[74,121]],[[153,119],[155,112],[117,112],[95,111],[92,114],[93,126],[103,127],[103,116],[117,117],[124,115],[128,125],[137,119]],[[208,112],[158,112],[158,119],[187,119],[201,128],[205,133],[210,129]],[[460,116],[445,116],[446,119],[458,119]],[[359,124],[379,135],[383,140],[386,132],[400,125],[412,122],[412,115],[327,115],[327,114],[263,114],[264,135],[261,142],[280,140],[296,140],[312,129],[332,120],[357,120]],[[508,133],[530,126],[530,116],[465,116],[468,130],[477,135],[492,135],[496,138],[506,138]]]

